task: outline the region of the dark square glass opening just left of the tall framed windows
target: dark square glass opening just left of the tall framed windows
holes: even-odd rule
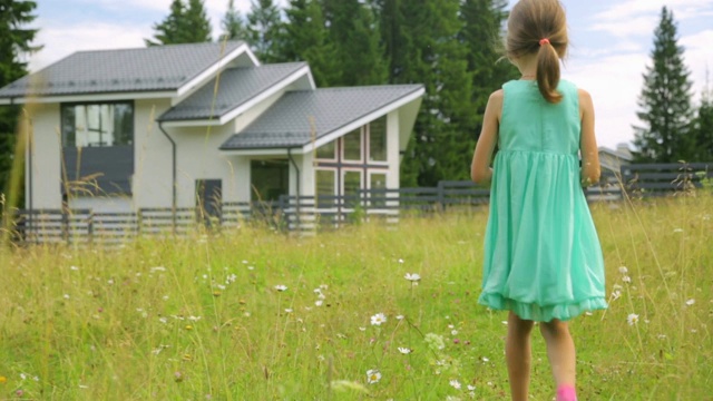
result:
[[[270,205],[290,194],[290,164],[286,159],[252,160],[251,200]]]

